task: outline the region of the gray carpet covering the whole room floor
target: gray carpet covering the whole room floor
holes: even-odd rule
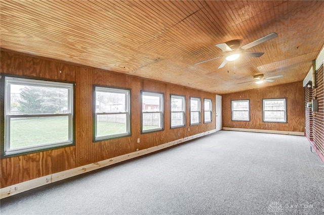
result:
[[[324,214],[303,136],[218,131],[1,200],[1,214]]]

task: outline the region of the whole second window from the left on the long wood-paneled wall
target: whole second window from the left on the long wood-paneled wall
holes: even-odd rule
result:
[[[130,90],[95,86],[95,141],[130,132]]]

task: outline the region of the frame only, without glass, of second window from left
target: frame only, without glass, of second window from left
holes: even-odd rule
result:
[[[120,93],[125,94],[125,112],[96,112],[96,101],[97,101],[97,89],[101,92],[110,92],[110,93]],[[103,85],[93,85],[93,99],[94,99],[94,107],[93,107],[93,141],[99,142],[109,139],[115,139],[120,137],[127,137],[131,135],[131,90],[127,88],[117,88],[111,86],[103,86]],[[126,132],[116,133],[104,136],[97,135],[97,116],[100,115],[125,115],[126,114]]]

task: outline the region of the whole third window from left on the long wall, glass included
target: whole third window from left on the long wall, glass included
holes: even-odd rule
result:
[[[163,94],[142,92],[142,132],[163,130]]]

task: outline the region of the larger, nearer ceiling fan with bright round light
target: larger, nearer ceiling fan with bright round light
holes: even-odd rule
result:
[[[264,54],[264,52],[244,51],[244,50],[246,50],[248,48],[251,48],[253,46],[259,45],[262,42],[273,39],[276,36],[278,36],[278,34],[275,33],[275,32],[272,32],[272,33],[270,33],[270,34],[268,34],[268,35],[266,35],[264,37],[261,37],[261,38],[259,38],[257,40],[254,40],[253,42],[250,42],[250,43],[248,43],[246,45],[243,45],[243,46],[240,46],[240,43],[242,41],[240,39],[234,39],[234,40],[227,41],[225,43],[216,44],[217,47],[219,47],[220,49],[222,49],[223,52],[226,53],[224,55],[225,60],[218,67],[218,69],[224,67],[228,61],[237,60],[240,57],[240,55],[244,55],[244,56],[247,56],[247,57],[260,58]],[[195,63],[194,65],[205,63],[205,62],[208,62],[208,61],[212,61],[212,60],[224,57],[224,56],[218,56],[216,58],[201,61],[201,62]]]

